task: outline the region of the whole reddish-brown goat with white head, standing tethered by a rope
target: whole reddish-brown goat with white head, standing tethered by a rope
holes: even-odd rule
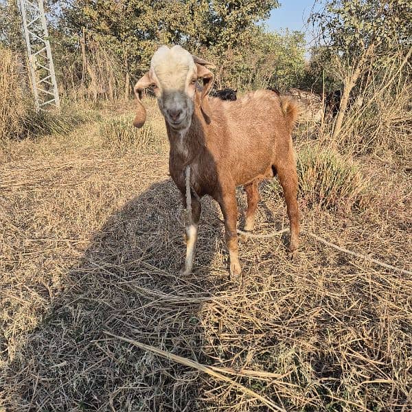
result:
[[[247,193],[245,231],[252,231],[258,205],[258,183],[277,173],[284,190],[290,220],[289,250],[296,254],[299,243],[297,171],[290,133],[297,106],[267,90],[248,93],[236,102],[209,98],[214,74],[210,62],[192,56],[179,45],[160,47],[152,57],[149,71],[135,85],[137,114],[133,124],[144,125],[146,109],[140,95],[153,87],[165,118],[170,141],[170,176],[185,198],[185,170],[190,165],[188,198],[193,222],[186,223],[186,258],[182,273],[192,271],[201,196],[208,194],[222,209],[229,250],[230,273],[241,273],[236,231],[238,210],[236,186]],[[203,79],[203,89],[196,86]]]

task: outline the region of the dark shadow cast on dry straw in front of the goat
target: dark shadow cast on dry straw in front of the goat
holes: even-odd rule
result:
[[[179,275],[183,207],[171,180],[150,186],[108,218],[23,348],[21,363],[30,374],[16,398],[24,410],[201,410],[197,371],[104,330],[202,362],[198,312],[214,290],[230,287],[226,267],[209,278],[224,237],[216,216],[207,218],[207,225],[205,218],[200,223],[195,275],[188,277]]]

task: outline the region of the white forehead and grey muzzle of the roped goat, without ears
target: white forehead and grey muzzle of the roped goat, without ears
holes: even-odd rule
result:
[[[197,71],[192,55],[179,45],[171,49],[162,46],[153,55],[150,70],[159,87],[161,113],[174,130],[187,130],[194,111],[194,87],[190,84]]]

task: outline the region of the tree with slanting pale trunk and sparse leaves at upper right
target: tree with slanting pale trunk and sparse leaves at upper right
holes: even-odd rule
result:
[[[341,131],[350,92],[371,60],[378,64],[393,50],[411,47],[412,5],[409,0],[327,0],[310,19],[319,25],[323,46],[343,82],[335,137]]]

